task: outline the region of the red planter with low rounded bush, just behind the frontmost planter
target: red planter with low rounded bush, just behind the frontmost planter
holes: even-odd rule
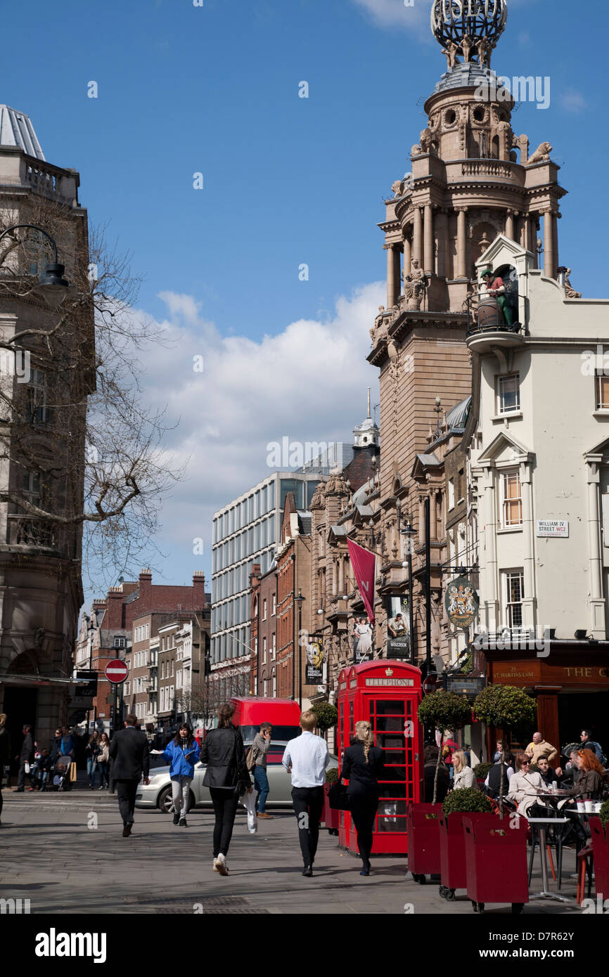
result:
[[[449,902],[455,899],[456,889],[467,887],[467,867],[463,843],[463,815],[491,817],[491,802],[475,787],[452,790],[442,804],[438,833],[440,838],[440,895]]]

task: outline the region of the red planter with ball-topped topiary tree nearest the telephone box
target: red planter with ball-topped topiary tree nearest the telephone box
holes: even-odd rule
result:
[[[409,804],[407,812],[409,870],[415,882],[423,883],[426,875],[440,871],[440,838],[438,818],[442,813],[436,804],[438,771],[442,760],[442,744],[448,730],[458,729],[471,718],[471,709],[462,696],[439,690],[425,696],[418,706],[418,720],[424,726],[440,731],[440,748],[436,761],[431,804]]]

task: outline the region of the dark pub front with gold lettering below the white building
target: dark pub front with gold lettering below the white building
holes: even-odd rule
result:
[[[544,650],[485,650],[489,682],[531,692],[536,729],[558,749],[579,743],[583,728],[604,749],[609,743],[609,642],[548,642]],[[535,732],[531,730],[531,733]],[[491,755],[498,731],[487,730]],[[526,745],[521,743],[520,745]],[[554,766],[559,761],[554,761]]]

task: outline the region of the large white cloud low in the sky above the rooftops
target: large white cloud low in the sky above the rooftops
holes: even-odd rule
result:
[[[147,399],[168,405],[169,423],[179,422],[168,432],[168,452],[178,462],[190,457],[188,481],[165,502],[159,546],[190,547],[202,536],[209,556],[213,512],[273,471],[270,442],[350,443],[366,415],[367,387],[377,402],[377,371],[366,356],[384,284],[339,297],[327,321],[298,319],[259,341],[221,336],[191,295],[159,297],[171,345],[141,356],[141,382]],[[193,369],[196,356],[202,373]],[[190,572],[185,566],[185,578]]]

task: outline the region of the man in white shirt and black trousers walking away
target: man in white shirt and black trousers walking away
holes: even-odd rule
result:
[[[300,717],[302,734],[290,740],[283,753],[283,766],[291,768],[292,804],[298,824],[298,839],[304,861],[303,875],[310,878],[320,837],[320,819],[324,808],[327,743],[314,736],[316,718],[309,709]]]

